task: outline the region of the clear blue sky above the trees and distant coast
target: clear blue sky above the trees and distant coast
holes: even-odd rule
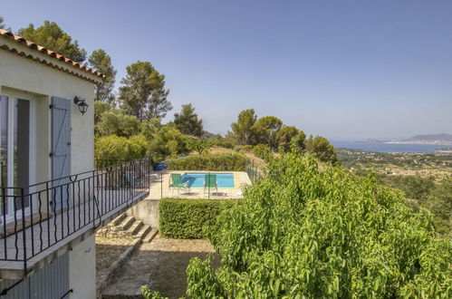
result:
[[[118,70],[149,61],[174,110],[225,133],[254,108],[332,140],[452,134],[452,1],[2,1],[51,20]],[[169,119],[169,118],[168,118]]]

